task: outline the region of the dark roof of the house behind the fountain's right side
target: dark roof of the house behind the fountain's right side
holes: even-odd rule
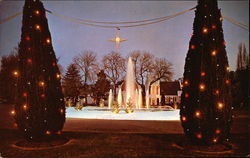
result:
[[[160,82],[161,95],[177,95],[177,91],[181,90],[179,81]]]

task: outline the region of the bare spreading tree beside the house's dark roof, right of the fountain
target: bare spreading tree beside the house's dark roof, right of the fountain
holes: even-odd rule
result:
[[[171,80],[173,76],[172,64],[165,58],[155,58],[152,75],[153,80],[150,82],[150,86],[161,79]]]

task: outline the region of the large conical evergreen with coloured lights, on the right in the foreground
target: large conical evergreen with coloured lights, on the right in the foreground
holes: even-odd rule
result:
[[[198,0],[184,69],[180,115],[186,136],[198,144],[228,140],[229,67],[217,0]]]

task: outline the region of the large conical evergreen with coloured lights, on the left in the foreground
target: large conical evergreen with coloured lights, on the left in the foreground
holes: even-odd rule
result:
[[[26,0],[19,44],[18,96],[15,119],[28,140],[60,134],[65,105],[60,72],[40,0]]]

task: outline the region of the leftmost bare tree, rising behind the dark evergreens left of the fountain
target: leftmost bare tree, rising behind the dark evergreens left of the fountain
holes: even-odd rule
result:
[[[96,54],[93,51],[83,51],[81,54],[76,56],[73,61],[83,75],[84,85],[87,85],[88,82],[96,80],[96,74],[98,73],[99,68]]]

